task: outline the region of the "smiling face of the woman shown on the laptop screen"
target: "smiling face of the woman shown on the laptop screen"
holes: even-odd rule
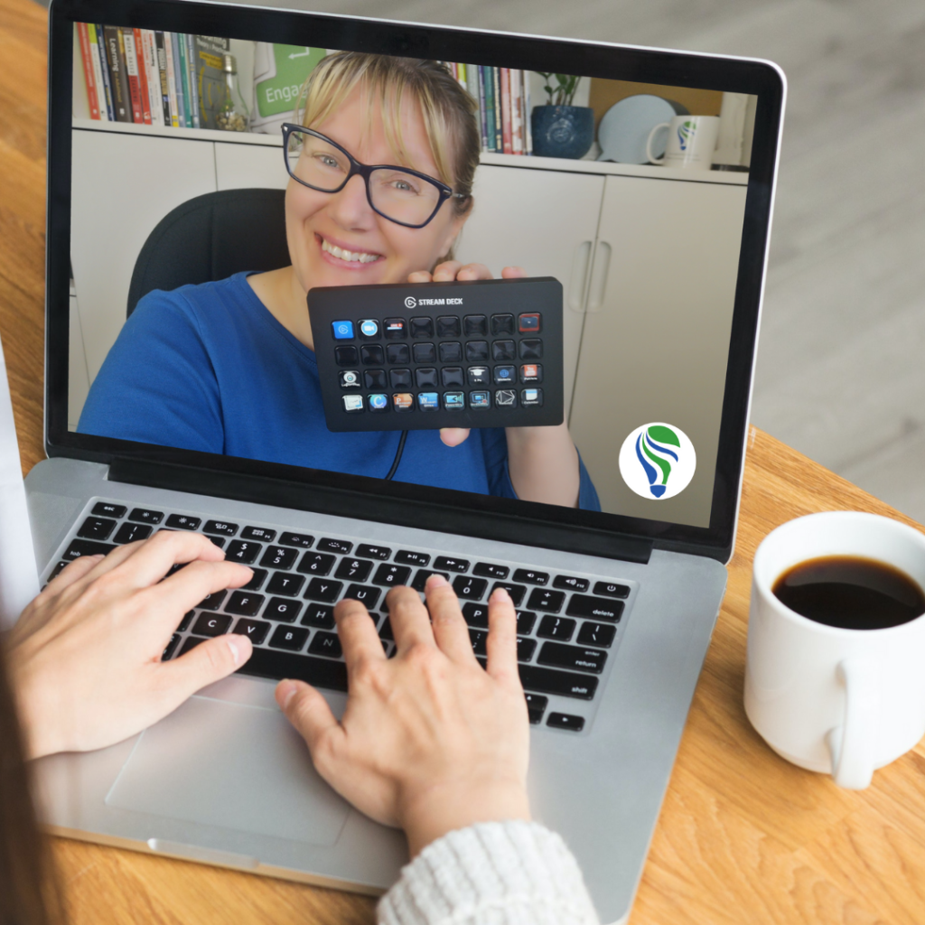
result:
[[[375,102],[367,113],[363,85],[338,110],[311,128],[338,142],[363,164],[395,164],[382,113]],[[438,177],[416,104],[401,107],[401,137],[411,166]],[[366,199],[362,177],[351,177],[339,192],[317,192],[290,179],[286,189],[286,236],[302,290],[314,286],[357,286],[406,282],[415,270],[430,270],[459,233],[465,216],[451,201],[424,228],[403,228],[376,214]]]

